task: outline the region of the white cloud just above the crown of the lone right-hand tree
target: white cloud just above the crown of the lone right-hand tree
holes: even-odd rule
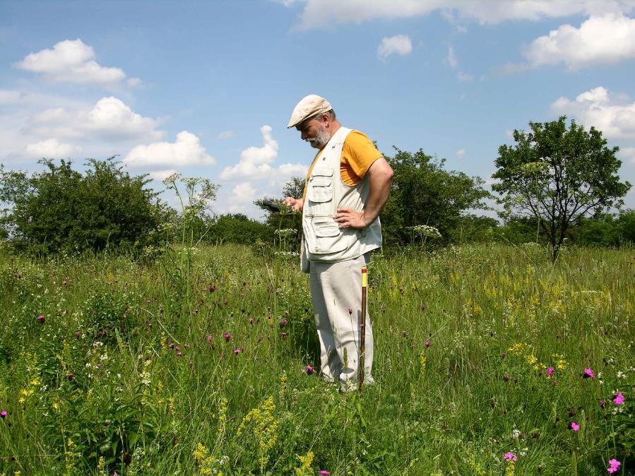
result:
[[[635,140],[635,102],[629,104],[602,86],[578,95],[575,100],[559,97],[552,102],[551,109],[575,117],[587,129],[594,126],[607,138]]]

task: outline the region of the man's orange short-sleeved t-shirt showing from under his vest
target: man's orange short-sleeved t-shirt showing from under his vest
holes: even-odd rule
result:
[[[322,153],[315,155],[309,173],[307,174],[307,182],[313,172],[316,159]],[[347,185],[355,185],[362,181],[366,172],[373,162],[382,157],[381,152],[373,145],[372,141],[360,131],[350,131],[344,141],[342,148],[342,157],[340,158],[340,177],[342,182]],[[304,195],[307,194],[307,187],[304,187]]]

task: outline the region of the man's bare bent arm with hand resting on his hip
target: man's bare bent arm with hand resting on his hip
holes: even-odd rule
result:
[[[361,212],[350,208],[338,208],[333,219],[340,224],[340,228],[365,228],[379,216],[381,208],[388,200],[393,180],[393,169],[384,157],[373,162],[368,169],[369,195],[368,202]]]

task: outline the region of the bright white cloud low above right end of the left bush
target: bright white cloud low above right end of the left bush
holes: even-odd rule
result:
[[[124,164],[135,168],[187,167],[190,165],[215,165],[201,141],[193,133],[182,131],[177,140],[137,145],[126,157]]]

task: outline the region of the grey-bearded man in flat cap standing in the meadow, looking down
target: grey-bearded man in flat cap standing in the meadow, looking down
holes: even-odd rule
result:
[[[302,268],[310,273],[311,301],[320,341],[323,379],[352,391],[359,379],[362,266],[381,246],[379,211],[393,170],[373,143],[340,124],[324,97],[304,97],[287,126],[319,149],[302,198],[285,205],[302,210]],[[364,309],[367,313],[367,309]],[[364,381],[373,383],[373,337],[366,319]]]

